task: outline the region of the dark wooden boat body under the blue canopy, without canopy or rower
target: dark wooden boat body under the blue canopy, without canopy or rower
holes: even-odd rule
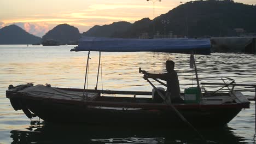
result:
[[[82,50],[81,47],[79,50]],[[196,69],[195,63],[194,66]],[[184,103],[171,104],[156,99],[162,95],[154,86],[156,92],[138,92],[98,90],[97,86],[96,89],[53,88],[50,85],[33,86],[28,83],[16,87],[10,85],[6,95],[14,110],[22,110],[28,118],[38,116],[46,122],[157,127],[183,127],[189,122],[196,127],[222,127],[242,109],[249,108],[249,100],[233,88],[229,93],[205,93],[201,92],[198,79],[197,84],[200,100],[186,100],[189,94],[181,93]],[[120,94],[126,97],[109,97],[103,94]]]

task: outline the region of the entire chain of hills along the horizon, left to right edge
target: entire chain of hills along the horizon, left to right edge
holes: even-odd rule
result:
[[[94,26],[82,35],[114,38],[255,36],[255,26],[256,5],[208,0],[181,4],[154,20],[143,18],[134,23],[121,21]],[[77,44],[80,37],[78,28],[67,24],[54,27],[42,39],[15,25],[0,29],[0,44],[42,44],[45,41],[58,45]]]

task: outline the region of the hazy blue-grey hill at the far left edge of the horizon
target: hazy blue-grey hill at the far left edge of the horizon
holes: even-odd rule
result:
[[[27,33],[24,29],[16,25],[6,26],[0,29],[0,44],[38,44],[41,38]]]

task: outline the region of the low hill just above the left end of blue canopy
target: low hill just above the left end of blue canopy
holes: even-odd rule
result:
[[[132,24],[130,22],[120,21],[113,22],[110,25],[94,26],[87,32],[84,32],[84,36],[89,37],[113,37],[115,33],[122,33],[127,30]]]

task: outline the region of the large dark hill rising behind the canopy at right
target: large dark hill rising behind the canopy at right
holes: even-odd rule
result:
[[[112,26],[112,25],[108,25]],[[154,27],[155,26],[155,27]],[[138,38],[142,33],[150,37],[155,34],[172,33],[178,37],[226,37],[242,33],[256,33],[256,5],[236,3],[231,0],[191,1],[162,14],[154,21],[144,18],[124,27],[126,31],[107,32],[108,27],[96,26],[89,31],[101,32],[101,35],[91,33],[90,36]],[[119,27],[122,29],[121,27]],[[235,29],[238,29],[237,32]],[[241,33],[241,31],[244,31]],[[86,32],[87,33],[87,32]],[[109,34],[111,33],[111,34]]]

